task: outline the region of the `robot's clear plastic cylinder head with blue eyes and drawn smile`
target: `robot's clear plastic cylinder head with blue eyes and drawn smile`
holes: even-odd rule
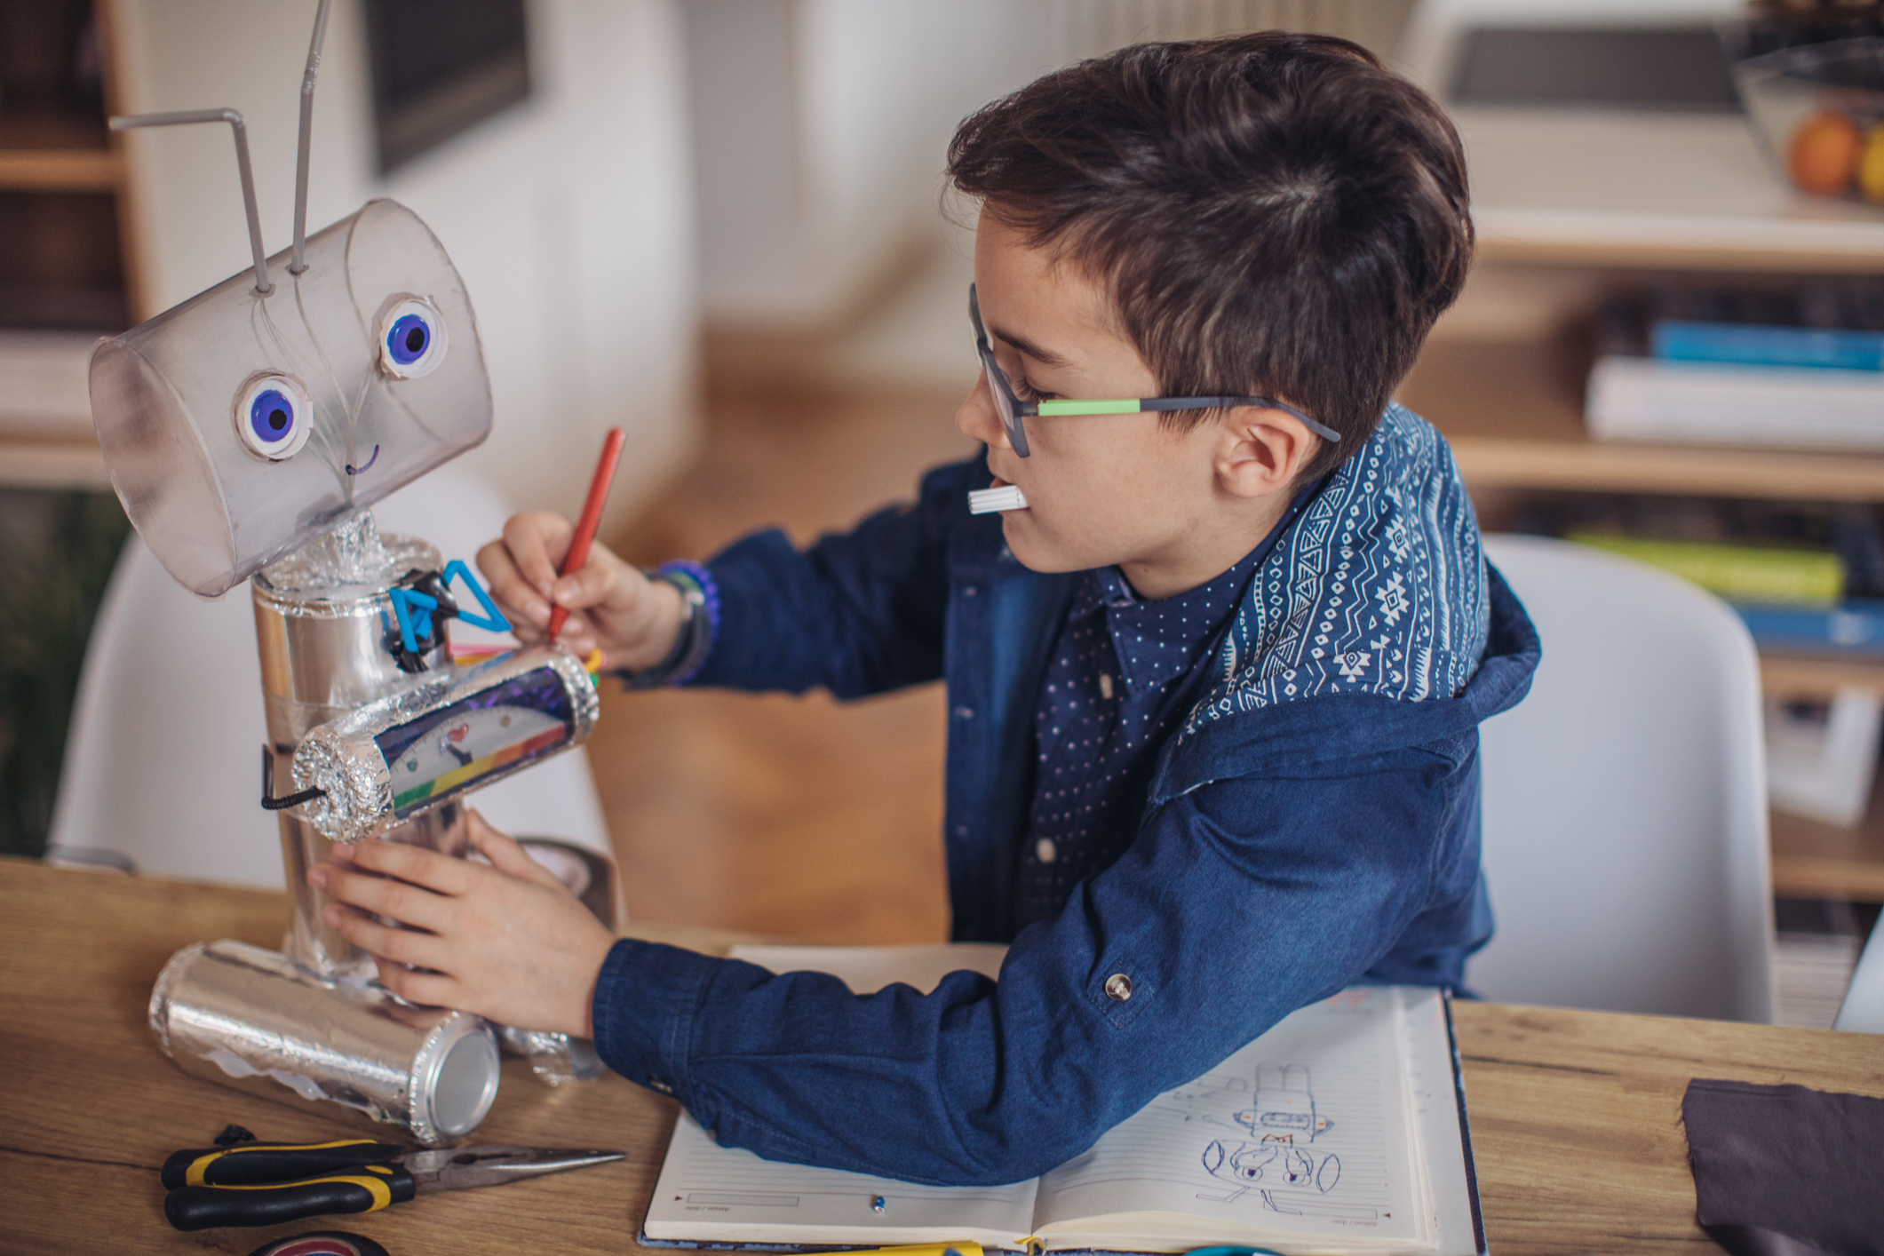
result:
[[[92,424],[143,542],[215,597],[482,443],[490,377],[463,281],[390,200],[92,352]]]

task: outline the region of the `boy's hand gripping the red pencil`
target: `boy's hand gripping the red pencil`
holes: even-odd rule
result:
[[[680,631],[680,589],[648,580],[603,544],[590,546],[582,571],[558,576],[573,539],[575,527],[558,514],[514,514],[503,525],[503,540],[479,550],[477,565],[516,638],[526,646],[541,642],[554,601],[569,608],[558,640],[573,653],[601,648],[609,667],[656,667]]]

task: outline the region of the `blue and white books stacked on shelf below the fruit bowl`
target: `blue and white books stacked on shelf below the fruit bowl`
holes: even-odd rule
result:
[[[1590,435],[1884,450],[1884,318],[1873,305],[1829,286],[1615,301],[1584,394]]]

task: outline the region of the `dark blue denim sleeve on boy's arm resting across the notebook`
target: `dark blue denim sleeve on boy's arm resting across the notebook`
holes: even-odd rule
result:
[[[1454,742],[1164,802],[1055,921],[1021,932],[999,981],[855,996],[829,975],[620,942],[595,1043],[725,1147],[918,1183],[1034,1177],[1362,977],[1458,893],[1437,868],[1477,876],[1475,851],[1437,849],[1477,800],[1477,738]]]

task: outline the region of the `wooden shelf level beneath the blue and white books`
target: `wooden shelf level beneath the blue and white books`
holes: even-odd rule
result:
[[[1588,356],[1564,343],[1430,341],[1400,386],[1471,488],[1884,501],[1884,456],[1592,441]]]

